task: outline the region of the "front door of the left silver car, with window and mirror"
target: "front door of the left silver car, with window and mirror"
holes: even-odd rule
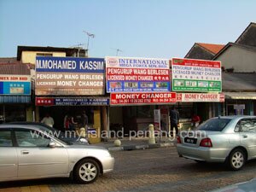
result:
[[[18,177],[63,176],[68,173],[67,149],[60,143],[51,148],[49,137],[29,129],[15,130],[15,137],[19,160]]]

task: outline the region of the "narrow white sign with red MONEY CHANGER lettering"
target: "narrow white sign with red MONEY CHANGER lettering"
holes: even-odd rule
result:
[[[177,102],[224,102],[224,94],[177,93]]]

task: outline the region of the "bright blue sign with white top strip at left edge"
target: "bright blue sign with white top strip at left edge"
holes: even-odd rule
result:
[[[30,75],[0,75],[0,95],[31,95]]]

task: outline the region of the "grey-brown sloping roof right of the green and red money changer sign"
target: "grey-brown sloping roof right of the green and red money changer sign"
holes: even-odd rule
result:
[[[222,73],[223,91],[252,91],[256,95],[256,73]]]

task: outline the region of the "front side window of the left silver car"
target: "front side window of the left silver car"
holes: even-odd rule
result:
[[[15,131],[19,147],[48,147],[50,139],[38,131]]]

